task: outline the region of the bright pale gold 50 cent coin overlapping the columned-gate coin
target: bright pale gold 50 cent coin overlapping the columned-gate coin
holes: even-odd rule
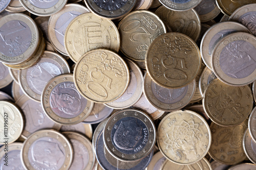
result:
[[[109,103],[118,99],[130,80],[123,59],[109,50],[93,50],[84,54],[74,69],[78,91],[88,100]]]

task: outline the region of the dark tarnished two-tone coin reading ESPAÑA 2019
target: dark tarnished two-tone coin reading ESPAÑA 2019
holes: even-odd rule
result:
[[[103,130],[106,149],[116,159],[132,162],[145,158],[154,148],[156,128],[150,117],[136,109],[114,113]]]

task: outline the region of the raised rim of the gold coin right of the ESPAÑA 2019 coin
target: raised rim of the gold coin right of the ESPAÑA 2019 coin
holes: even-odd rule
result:
[[[174,161],[172,159],[170,159],[163,151],[163,149],[161,148],[161,145],[160,145],[160,136],[159,136],[159,131],[161,131],[161,126],[162,124],[165,122],[166,119],[169,118],[170,115],[173,115],[173,114],[177,114],[178,113],[181,113],[181,114],[192,114],[192,115],[195,115],[197,116],[199,119],[202,120],[202,122],[204,123],[205,127],[207,128],[207,131],[208,131],[208,137],[209,137],[209,143],[208,143],[208,146],[207,146],[207,149],[205,149],[205,154],[203,154],[202,156],[200,156],[198,158],[198,160],[201,160],[202,158],[204,158],[204,156],[208,153],[209,149],[210,149],[210,145],[211,145],[211,131],[210,131],[210,128],[206,122],[206,120],[203,118],[203,116],[201,116],[200,114],[194,112],[194,111],[190,111],[190,110],[176,110],[174,112],[170,112],[168,113],[160,122],[159,126],[158,126],[158,130],[157,130],[157,143],[158,143],[158,148],[159,150],[161,151],[161,153],[165,156],[165,158],[167,158],[169,161],[171,162],[174,162],[176,164],[180,164],[180,165],[189,165],[189,164],[193,164],[193,163],[196,163],[198,162],[198,160],[196,161],[193,161],[193,162],[189,162],[189,163],[180,163],[180,162],[177,162],[177,161]]]

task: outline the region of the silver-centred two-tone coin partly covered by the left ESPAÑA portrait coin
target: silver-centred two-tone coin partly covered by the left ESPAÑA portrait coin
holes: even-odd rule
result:
[[[45,51],[36,65],[19,71],[19,84],[26,95],[40,102],[48,81],[69,72],[70,68],[65,59],[57,53]]]

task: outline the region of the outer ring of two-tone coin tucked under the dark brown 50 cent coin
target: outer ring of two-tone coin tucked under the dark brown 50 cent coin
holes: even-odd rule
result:
[[[159,110],[163,110],[166,112],[172,112],[175,110],[179,110],[183,107],[185,107],[193,98],[195,92],[196,92],[196,80],[194,79],[192,82],[190,82],[187,86],[187,93],[179,102],[173,103],[173,104],[166,104],[161,101],[159,101],[155,95],[152,92],[152,79],[150,75],[146,74],[144,78],[144,86],[143,86],[143,93],[145,94],[146,99],[148,102],[150,102],[155,108]],[[167,88],[172,89],[172,88]]]

